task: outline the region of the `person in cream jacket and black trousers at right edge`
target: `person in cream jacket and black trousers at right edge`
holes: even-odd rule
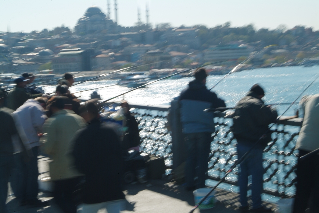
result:
[[[300,160],[300,157],[319,148],[319,94],[303,96],[299,103],[304,111],[304,119],[296,147],[299,151],[297,164],[296,198],[293,213],[319,211],[319,155]]]

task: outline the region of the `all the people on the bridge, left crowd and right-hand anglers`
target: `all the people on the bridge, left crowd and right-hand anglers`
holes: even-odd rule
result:
[[[181,106],[182,131],[185,135],[186,190],[205,187],[211,134],[215,132],[214,114],[208,108],[224,108],[224,100],[208,90],[206,70],[197,69],[195,80],[189,82],[178,97]],[[33,74],[15,80],[16,87],[7,96],[0,90],[0,212],[6,212],[8,182],[19,204],[30,207],[47,206],[38,199],[38,155],[48,155],[54,200],[65,213],[109,213],[124,208],[121,188],[123,150],[139,151],[137,122],[126,101],[120,103],[126,119],[126,134],[121,138],[114,126],[101,122],[97,100],[81,103],[70,93],[74,80],[66,73],[56,87],[54,96],[31,85]],[[271,141],[269,124],[276,121],[277,111],[262,100],[264,89],[253,85],[235,106],[233,133],[237,140],[241,212],[271,212],[262,205],[263,150]],[[297,141],[299,157],[319,148],[317,142],[319,95],[305,96],[300,101],[304,122]],[[254,146],[258,142],[257,146]],[[251,147],[254,149],[249,152]],[[298,160],[297,192],[294,213],[305,212],[310,203],[316,212],[318,202],[318,155],[309,161]],[[248,177],[252,176],[252,208],[247,199]]]

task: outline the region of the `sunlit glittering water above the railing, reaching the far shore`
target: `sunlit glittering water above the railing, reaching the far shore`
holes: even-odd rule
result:
[[[213,91],[226,101],[226,105],[232,107],[238,102],[254,83],[259,83],[266,91],[263,100],[266,103],[290,103],[293,102],[308,84],[319,73],[319,67],[273,67],[254,70],[245,70],[229,75],[220,82]],[[223,75],[211,75],[207,78],[206,86],[211,88]],[[123,96],[113,99],[113,101],[127,100],[129,103],[156,105],[169,104],[178,96],[182,89],[186,88],[193,77],[181,79],[165,79],[150,84],[142,89],[137,89]],[[99,87],[116,84],[118,80],[93,81],[70,87],[70,92],[75,93],[82,90],[94,89],[101,95],[102,99],[109,99],[121,93],[129,91],[131,88],[123,86],[111,86],[97,89]],[[43,85],[45,92],[55,91],[56,86]],[[314,82],[305,94],[315,94],[319,92],[319,80]],[[93,90],[92,90],[93,91]],[[76,93],[76,96],[89,98],[92,91]],[[299,101],[299,100],[298,100]],[[281,114],[289,105],[278,105],[278,114]],[[298,105],[294,105],[285,114],[294,115],[294,110]]]

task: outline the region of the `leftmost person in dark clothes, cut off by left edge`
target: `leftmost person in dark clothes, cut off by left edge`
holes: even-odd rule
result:
[[[0,90],[0,212],[6,213],[8,181],[14,165],[11,137],[17,133],[17,130],[11,116],[12,110],[4,107],[3,102],[4,92]]]

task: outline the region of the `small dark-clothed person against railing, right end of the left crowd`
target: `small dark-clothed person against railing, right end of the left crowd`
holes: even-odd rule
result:
[[[139,145],[141,144],[141,138],[139,136],[138,125],[136,119],[130,113],[130,106],[126,101],[120,103],[120,106],[124,108],[126,117],[126,133],[123,139],[122,148],[126,150],[135,149],[139,151]]]

